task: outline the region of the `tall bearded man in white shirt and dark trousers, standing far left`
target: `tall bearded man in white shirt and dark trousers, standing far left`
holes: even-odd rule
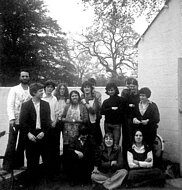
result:
[[[3,169],[7,171],[24,166],[24,137],[20,129],[19,116],[22,103],[31,98],[28,86],[29,72],[22,70],[19,80],[20,84],[10,89],[7,99],[9,139],[3,161]],[[17,148],[16,144],[18,144]]]

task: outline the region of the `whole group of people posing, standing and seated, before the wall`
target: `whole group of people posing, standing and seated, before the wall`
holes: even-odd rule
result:
[[[20,84],[8,95],[5,170],[23,167],[25,153],[28,181],[42,175],[36,170],[40,156],[44,174],[58,175],[62,135],[61,164],[70,185],[92,182],[93,189],[112,190],[122,184],[164,184],[161,170],[154,167],[160,116],[157,105],[149,100],[149,88],[138,90],[137,80],[127,78],[127,88],[119,95],[117,85],[109,82],[105,88],[109,97],[102,102],[93,78],[83,82],[81,94],[69,92],[62,83],[56,87],[52,80],[30,86],[29,80],[29,72],[22,70]]]

